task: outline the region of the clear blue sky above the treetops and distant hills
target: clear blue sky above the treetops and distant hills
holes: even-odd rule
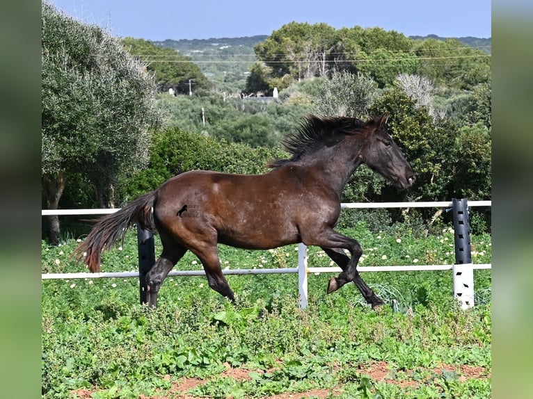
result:
[[[270,35],[292,21],[404,35],[491,37],[490,0],[48,0],[113,35],[146,40]]]

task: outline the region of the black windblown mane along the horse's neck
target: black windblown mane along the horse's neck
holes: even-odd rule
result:
[[[289,162],[299,161],[302,156],[315,152],[324,146],[337,144],[347,134],[365,125],[365,122],[355,117],[320,117],[306,115],[299,124],[299,129],[285,136],[281,143],[291,158],[276,159],[269,164],[269,168],[278,168]]]

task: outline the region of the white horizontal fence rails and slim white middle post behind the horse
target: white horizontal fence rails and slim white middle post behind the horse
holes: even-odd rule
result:
[[[352,202],[340,204],[342,209],[377,209],[377,208],[449,208],[452,202]],[[468,201],[468,206],[492,206],[492,201]],[[47,215],[106,215],[114,213],[119,209],[43,209],[42,216]],[[285,274],[298,273],[299,275],[299,295],[301,307],[308,305],[308,275],[310,273],[340,272],[339,267],[315,267],[307,266],[307,247],[302,243],[298,249],[298,267],[282,269],[226,269],[224,275],[265,275],[265,274]],[[457,265],[410,265],[410,266],[364,266],[358,268],[359,272],[400,272],[400,271],[432,271],[432,270],[454,270]],[[491,263],[460,265],[470,269],[491,269]],[[460,273],[459,273],[460,274]],[[168,276],[202,276],[204,270],[171,270]],[[455,275],[455,273],[454,273]],[[138,277],[139,272],[100,272],[100,273],[42,273],[41,279],[94,279],[105,277]],[[472,287],[473,288],[473,287]]]

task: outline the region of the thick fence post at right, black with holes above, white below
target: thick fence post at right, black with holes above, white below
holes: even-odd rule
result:
[[[470,250],[470,223],[466,198],[452,198],[454,220],[455,264],[454,298],[461,302],[462,309],[474,306],[474,268]]]

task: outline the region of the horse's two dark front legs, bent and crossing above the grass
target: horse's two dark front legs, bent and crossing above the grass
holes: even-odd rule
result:
[[[331,279],[329,280],[327,292],[333,293],[345,284],[344,279],[342,277],[344,277],[343,273],[346,273],[348,268],[350,267],[351,259],[347,257],[346,254],[344,254],[343,250],[337,248],[322,247],[322,250],[324,250],[324,252],[328,254],[328,257],[330,257],[342,269],[342,273],[339,275],[339,277],[331,277]],[[351,275],[353,275],[353,279],[351,281],[356,284],[358,290],[360,291],[361,295],[363,295],[363,298],[365,298],[367,303],[372,305],[372,309],[376,309],[376,307],[381,306],[384,302],[383,300],[381,300],[381,298],[379,298],[379,296],[376,295],[376,293],[374,293],[374,291],[372,291],[372,288],[367,286],[367,284],[359,275],[359,272],[357,271],[357,262],[359,260],[359,257],[355,262],[355,266],[353,266],[353,272],[350,271],[347,274],[349,274],[348,277],[351,277]]]

